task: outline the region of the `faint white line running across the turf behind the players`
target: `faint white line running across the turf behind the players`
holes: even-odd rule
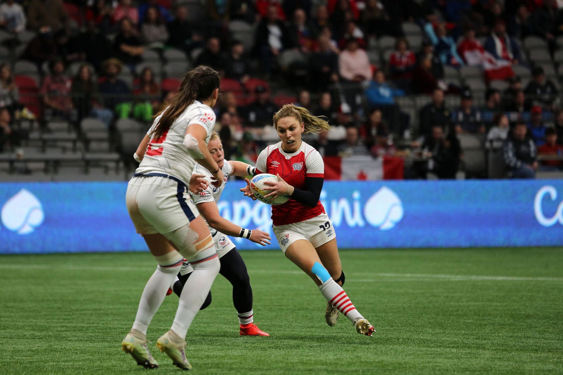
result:
[[[96,267],[96,266],[52,266],[47,264],[0,264],[0,269],[66,269],[66,270],[90,270],[90,271],[142,271],[142,270],[155,270],[154,266],[137,266],[137,267]],[[298,270],[248,270],[249,273],[278,273],[278,274],[302,274]],[[449,274],[434,274],[434,273],[355,273],[351,272],[350,276],[371,276],[371,277],[397,277],[397,278],[415,278],[415,279],[449,279],[458,281],[467,280],[499,280],[499,281],[558,281],[562,282],[561,277],[520,277],[520,276],[485,276],[485,275],[449,275]],[[375,279],[361,279],[361,281],[377,281]],[[405,279],[406,280],[406,279]],[[356,279],[360,281],[360,279]]]

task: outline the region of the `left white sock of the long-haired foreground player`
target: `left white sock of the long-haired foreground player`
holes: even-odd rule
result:
[[[166,292],[174,277],[180,272],[182,263],[173,266],[157,267],[157,270],[146,283],[145,290],[142,291],[141,301],[135,317],[133,328],[146,335],[146,329],[149,327],[151,319],[157,313],[160,304],[166,297]]]

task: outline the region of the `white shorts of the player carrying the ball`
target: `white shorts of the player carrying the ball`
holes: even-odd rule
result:
[[[274,236],[278,239],[283,252],[294,241],[307,240],[316,249],[336,238],[336,232],[327,214],[320,214],[303,222],[274,225]]]

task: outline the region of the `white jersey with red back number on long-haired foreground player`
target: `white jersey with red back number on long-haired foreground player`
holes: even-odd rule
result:
[[[157,126],[162,114],[158,116],[147,134]],[[186,185],[190,182],[191,173],[196,161],[189,155],[184,146],[187,126],[202,125],[207,131],[205,144],[209,142],[215,126],[215,112],[202,102],[195,101],[174,120],[167,132],[159,138],[152,138],[146,148],[145,155],[135,173],[162,173],[182,180]]]

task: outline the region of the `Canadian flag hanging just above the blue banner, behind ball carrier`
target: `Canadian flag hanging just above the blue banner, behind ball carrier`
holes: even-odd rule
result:
[[[403,179],[405,162],[401,157],[325,156],[327,180],[397,180]]]

